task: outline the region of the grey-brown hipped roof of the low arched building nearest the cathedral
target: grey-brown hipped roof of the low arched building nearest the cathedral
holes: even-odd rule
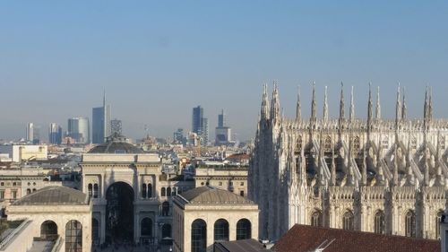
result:
[[[210,186],[196,187],[181,196],[188,201],[187,204],[254,204],[246,197]]]

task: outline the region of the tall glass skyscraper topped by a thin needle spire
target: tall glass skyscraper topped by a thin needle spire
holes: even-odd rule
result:
[[[106,92],[103,96],[103,106],[91,110],[92,143],[104,143],[110,132],[110,106],[106,105]]]

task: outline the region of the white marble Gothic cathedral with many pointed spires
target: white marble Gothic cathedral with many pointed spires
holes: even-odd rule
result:
[[[367,117],[355,117],[353,87],[349,115],[343,85],[339,117],[329,116],[327,88],[323,117],[280,113],[278,86],[271,103],[263,88],[254,140],[248,196],[261,209],[261,239],[276,240],[295,223],[438,239],[448,186],[448,120],[433,118],[426,87],[423,117],[409,119],[404,93],[397,91],[395,118],[381,117],[379,88]],[[375,109],[374,109],[375,107]],[[375,110],[375,114],[374,114]]]

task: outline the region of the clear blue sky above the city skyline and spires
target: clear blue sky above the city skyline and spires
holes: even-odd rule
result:
[[[409,117],[423,114],[426,85],[435,117],[448,117],[447,1],[1,1],[0,138],[47,135],[69,117],[90,117],[106,89],[124,134],[172,137],[191,130],[192,109],[220,109],[237,138],[254,137],[263,83],[279,83],[280,107],[295,115],[297,85],[309,115],[315,82],[337,117],[346,104],[366,117],[368,83],[394,116],[397,83]],[[348,107],[347,107],[348,108]],[[90,122],[91,123],[91,122]]]

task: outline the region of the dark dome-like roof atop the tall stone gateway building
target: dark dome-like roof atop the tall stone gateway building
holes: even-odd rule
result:
[[[108,137],[106,143],[93,147],[89,153],[140,154],[143,151],[134,144],[126,143],[125,136],[114,133]]]

